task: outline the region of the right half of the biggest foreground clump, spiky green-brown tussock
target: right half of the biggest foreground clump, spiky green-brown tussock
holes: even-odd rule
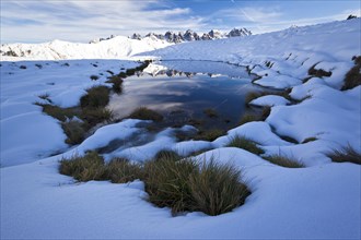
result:
[[[232,165],[205,163],[189,177],[193,208],[216,216],[244,204],[251,192],[240,179],[241,171]]]

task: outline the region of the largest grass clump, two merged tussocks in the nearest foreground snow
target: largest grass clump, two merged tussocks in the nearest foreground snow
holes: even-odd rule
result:
[[[160,158],[145,163],[144,172],[149,201],[170,207],[174,215],[186,211],[220,215],[242,205],[249,195],[241,171],[213,159],[199,166],[190,158]]]

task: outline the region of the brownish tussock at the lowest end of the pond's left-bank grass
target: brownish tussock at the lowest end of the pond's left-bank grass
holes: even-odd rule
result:
[[[80,121],[67,121],[61,123],[61,128],[67,135],[67,144],[79,144],[84,140],[85,128],[84,123]]]

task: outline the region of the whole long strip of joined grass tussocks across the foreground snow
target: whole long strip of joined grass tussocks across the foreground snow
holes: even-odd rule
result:
[[[217,164],[212,158],[200,166],[196,159],[179,159],[170,153],[143,165],[124,158],[106,165],[102,156],[90,152],[61,159],[59,171],[78,181],[125,183],[140,179],[145,183],[149,201],[170,207],[174,215],[187,211],[220,215],[242,205],[251,194],[241,180],[241,171],[232,165]]]

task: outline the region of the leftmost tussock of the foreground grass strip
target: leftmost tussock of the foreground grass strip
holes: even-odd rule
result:
[[[61,159],[59,172],[83,182],[105,180],[104,159],[95,152],[89,152],[84,156],[73,156],[70,159]]]

